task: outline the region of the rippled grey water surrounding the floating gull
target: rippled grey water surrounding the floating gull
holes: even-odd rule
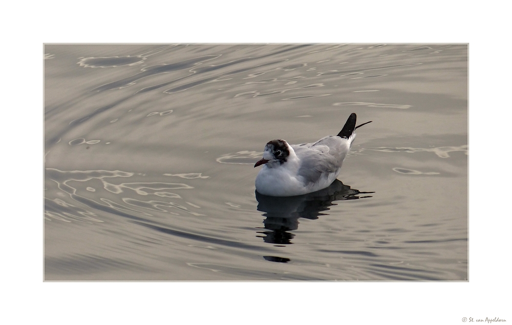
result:
[[[328,189],[265,144],[358,123]],[[466,45],[46,45],[45,280],[467,280]]]

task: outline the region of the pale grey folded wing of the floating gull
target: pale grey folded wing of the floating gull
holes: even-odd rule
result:
[[[347,139],[329,136],[315,143],[292,145],[292,148],[301,160],[297,174],[309,184],[317,183],[332,173],[337,176],[350,150],[350,143]]]

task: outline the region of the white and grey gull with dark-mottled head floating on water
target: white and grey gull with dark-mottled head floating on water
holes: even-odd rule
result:
[[[371,121],[370,121],[371,122]],[[315,192],[334,182],[355,139],[356,115],[350,114],[336,136],[314,143],[289,145],[285,140],[272,140],[263,151],[263,165],[256,177],[258,193],[272,197],[293,197]]]

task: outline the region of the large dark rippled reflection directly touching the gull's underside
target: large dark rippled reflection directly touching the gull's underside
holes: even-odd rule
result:
[[[258,200],[258,211],[265,212],[263,221],[265,231],[258,233],[265,234],[263,240],[266,243],[285,245],[291,244],[290,240],[295,236],[289,230],[298,228],[298,218],[318,219],[323,215],[321,211],[329,210],[333,201],[355,200],[370,198],[370,196],[359,197],[359,194],[374,192],[360,192],[335,180],[329,187],[322,190],[295,197],[270,197],[256,191]]]

